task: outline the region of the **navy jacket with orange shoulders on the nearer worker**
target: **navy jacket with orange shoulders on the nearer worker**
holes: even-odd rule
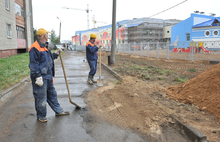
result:
[[[48,47],[40,43],[38,40],[35,41],[29,49],[29,68],[30,75],[34,78],[40,76],[54,76],[54,59],[58,57],[57,54],[51,53]]]

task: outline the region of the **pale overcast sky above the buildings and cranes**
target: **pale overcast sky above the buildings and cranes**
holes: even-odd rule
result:
[[[184,0],[116,0],[116,21],[132,20],[152,16]],[[34,28],[52,29],[59,35],[61,21],[61,40],[71,40],[75,31],[87,30],[86,11],[64,9],[62,7],[92,10],[89,13],[90,28],[112,23],[113,0],[32,0]],[[188,0],[185,3],[152,18],[184,20],[194,11],[203,11],[205,15],[215,13],[220,17],[220,0]],[[59,17],[59,19],[57,19]],[[105,24],[106,23],[106,24]]]

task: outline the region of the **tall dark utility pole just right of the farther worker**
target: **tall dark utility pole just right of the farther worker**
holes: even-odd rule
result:
[[[112,8],[112,41],[111,41],[111,64],[115,64],[115,25],[116,25],[116,0],[113,0]]]

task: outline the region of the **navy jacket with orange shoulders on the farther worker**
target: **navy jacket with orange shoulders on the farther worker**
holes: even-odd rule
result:
[[[88,41],[86,43],[86,58],[87,60],[97,60],[98,54],[97,51],[99,48],[92,43],[91,41]]]

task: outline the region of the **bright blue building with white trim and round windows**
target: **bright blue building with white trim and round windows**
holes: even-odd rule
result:
[[[220,49],[220,18],[207,15],[191,16],[171,28],[171,42],[200,42],[208,50]],[[185,44],[185,46],[189,44]],[[179,46],[179,48],[186,48]]]

